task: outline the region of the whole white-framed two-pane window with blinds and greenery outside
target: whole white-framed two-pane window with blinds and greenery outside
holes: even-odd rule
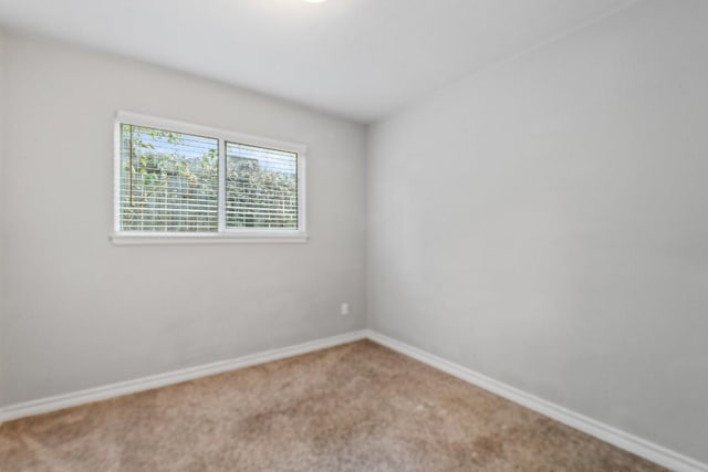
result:
[[[306,240],[304,147],[119,113],[116,243]]]

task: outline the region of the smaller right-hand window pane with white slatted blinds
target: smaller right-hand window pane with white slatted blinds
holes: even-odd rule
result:
[[[226,144],[227,228],[298,229],[298,155]]]

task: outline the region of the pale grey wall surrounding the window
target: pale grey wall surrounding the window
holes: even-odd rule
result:
[[[364,327],[362,126],[14,33],[4,45],[6,405]],[[112,245],[116,109],[308,145],[310,242]]]

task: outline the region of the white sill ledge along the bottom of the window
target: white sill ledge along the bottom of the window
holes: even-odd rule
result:
[[[174,244],[262,244],[305,243],[310,238],[302,232],[249,231],[232,233],[133,233],[114,232],[115,245],[174,245]]]

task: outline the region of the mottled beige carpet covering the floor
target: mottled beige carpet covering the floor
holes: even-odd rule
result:
[[[0,427],[6,471],[654,471],[371,342]]]

